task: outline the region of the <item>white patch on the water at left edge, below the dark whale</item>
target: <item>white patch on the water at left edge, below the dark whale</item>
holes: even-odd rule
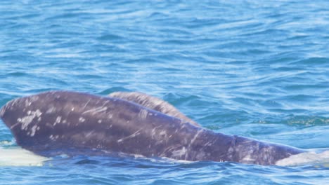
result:
[[[41,166],[46,160],[49,160],[49,158],[37,156],[18,146],[0,147],[0,166]]]

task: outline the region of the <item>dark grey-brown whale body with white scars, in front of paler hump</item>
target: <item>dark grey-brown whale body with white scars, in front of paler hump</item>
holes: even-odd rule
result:
[[[7,102],[0,109],[0,118],[19,146],[45,157],[124,153],[146,158],[276,165],[279,160],[305,152],[214,132],[189,123],[187,117],[152,109],[159,104],[138,104],[136,95],[121,97],[49,91]],[[147,96],[143,99],[152,100]]]

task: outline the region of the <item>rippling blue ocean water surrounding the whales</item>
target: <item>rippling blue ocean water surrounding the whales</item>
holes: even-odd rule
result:
[[[0,106],[46,90],[139,91],[214,132],[325,149],[328,51],[325,0],[4,0]],[[329,183],[329,165],[321,161],[283,167],[138,156],[40,160],[20,151],[0,121],[0,184]]]

